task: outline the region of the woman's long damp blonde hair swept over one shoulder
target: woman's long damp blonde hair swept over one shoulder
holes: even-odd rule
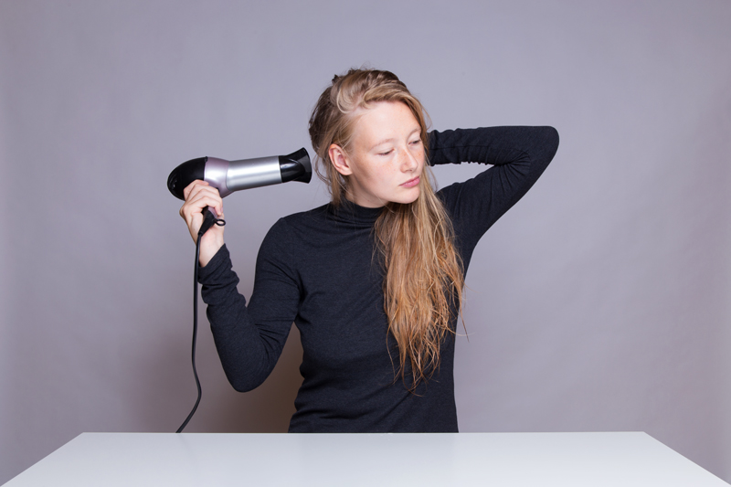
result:
[[[428,157],[427,117],[418,101],[389,71],[350,69],[335,76],[310,117],[310,138],[318,175],[329,186],[334,206],[347,194],[348,176],[335,170],[329,148],[351,148],[356,111],[373,103],[404,103],[413,113]],[[384,272],[384,310],[388,331],[396,338],[401,376],[409,390],[426,381],[440,365],[440,345],[454,331],[450,320],[459,313],[464,287],[461,259],[454,246],[450,217],[431,185],[429,165],[413,203],[387,203],[376,219],[375,244]],[[408,372],[410,371],[410,373]]]

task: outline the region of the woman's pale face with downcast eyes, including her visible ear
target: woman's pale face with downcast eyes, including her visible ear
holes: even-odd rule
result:
[[[421,127],[400,101],[379,101],[355,122],[352,148],[330,146],[335,169],[347,176],[346,197],[356,205],[412,203],[424,169]]]

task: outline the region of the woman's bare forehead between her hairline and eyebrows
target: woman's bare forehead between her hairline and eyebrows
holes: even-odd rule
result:
[[[408,137],[421,132],[416,117],[401,101],[377,101],[357,114],[354,143],[377,143],[380,140]]]

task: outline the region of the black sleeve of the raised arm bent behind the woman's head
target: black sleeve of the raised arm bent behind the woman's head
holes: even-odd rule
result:
[[[429,164],[493,165],[464,183],[440,190],[465,268],[478,240],[534,185],[557,148],[558,132],[553,127],[430,132]]]

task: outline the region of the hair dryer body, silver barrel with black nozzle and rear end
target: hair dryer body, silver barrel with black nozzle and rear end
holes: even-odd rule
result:
[[[309,183],[313,178],[310,155],[302,147],[289,155],[226,161],[217,157],[198,157],[175,167],[167,177],[173,196],[185,199],[183,190],[196,179],[217,187],[221,197],[240,189],[279,185],[289,181]]]

